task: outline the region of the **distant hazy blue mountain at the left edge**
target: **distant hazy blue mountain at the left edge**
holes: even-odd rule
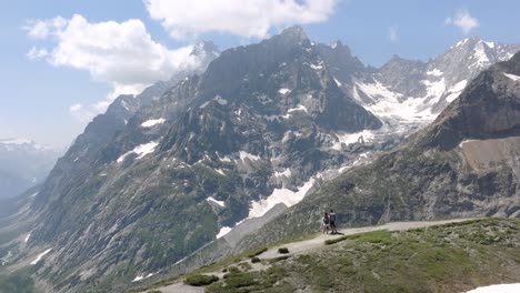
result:
[[[27,139],[0,139],[0,198],[16,196],[42,182],[60,151]]]

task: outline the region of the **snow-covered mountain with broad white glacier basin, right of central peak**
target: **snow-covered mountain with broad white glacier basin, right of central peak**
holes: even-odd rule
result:
[[[428,61],[392,58],[378,70],[337,79],[357,101],[384,121],[431,122],[482,70],[509,60],[519,44],[468,38]],[[343,69],[346,71],[348,69]]]

